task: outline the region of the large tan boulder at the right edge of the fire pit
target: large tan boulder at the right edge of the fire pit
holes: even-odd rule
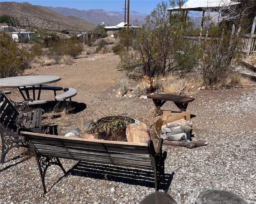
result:
[[[126,139],[128,142],[148,143],[150,140],[146,124],[132,123],[126,127]]]

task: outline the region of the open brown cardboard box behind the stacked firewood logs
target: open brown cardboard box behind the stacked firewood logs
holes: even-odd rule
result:
[[[158,137],[160,137],[162,126],[167,124],[167,123],[174,122],[174,121],[177,121],[177,120],[180,120],[180,119],[189,121],[190,120],[190,114],[191,114],[191,112],[177,113],[177,112],[171,112],[171,111],[164,111],[163,112],[163,117],[159,118],[154,123],[154,129],[156,130],[156,134],[158,135]]]

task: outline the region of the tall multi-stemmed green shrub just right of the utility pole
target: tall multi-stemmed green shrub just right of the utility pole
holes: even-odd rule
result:
[[[120,66],[136,67],[139,64],[142,73],[148,77],[166,75],[175,69],[176,53],[182,51],[185,29],[180,19],[184,18],[184,14],[178,12],[170,21],[170,12],[166,9],[167,4],[162,2],[146,18],[146,24],[137,31],[130,45],[134,52],[122,53]],[[128,59],[133,64],[127,64]]]

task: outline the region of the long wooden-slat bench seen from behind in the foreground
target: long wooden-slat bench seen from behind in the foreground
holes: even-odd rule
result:
[[[44,194],[47,192],[44,178],[49,166],[58,165],[67,175],[59,158],[153,170],[156,191],[159,190],[161,181],[165,183],[164,160],[167,153],[162,152],[162,138],[155,151],[152,140],[146,144],[71,138],[28,131],[20,131],[20,134],[26,137],[32,147],[40,171]]]

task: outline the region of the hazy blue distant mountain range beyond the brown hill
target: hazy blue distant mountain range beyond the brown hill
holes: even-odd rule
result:
[[[58,12],[64,16],[75,16],[77,18],[82,18],[91,22],[93,24],[99,25],[102,22],[106,26],[116,26],[117,24],[124,22],[124,12],[107,12],[102,9],[96,10],[77,10],[74,8],[65,7],[46,7],[50,10]],[[129,23],[134,25],[142,25],[145,23],[145,18],[147,14],[140,14],[135,11],[129,12]],[[126,14],[127,17],[127,14]]]

